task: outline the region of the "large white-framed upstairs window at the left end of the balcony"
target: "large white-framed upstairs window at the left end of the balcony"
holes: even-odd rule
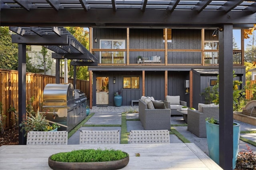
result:
[[[100,40],[100,49],[125,49],[125,40]],[[101,51],[100,63],[123,64],[125,63],[125,52]]]

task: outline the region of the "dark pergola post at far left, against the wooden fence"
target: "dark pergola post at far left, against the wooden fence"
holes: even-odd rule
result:
[[[26,118],[26,43],[18,44],[18,111],[19,111],[19,125]],[[24,137],[25,131],[20,131],[22,127],[19,126],[19,144],[26,144]]]

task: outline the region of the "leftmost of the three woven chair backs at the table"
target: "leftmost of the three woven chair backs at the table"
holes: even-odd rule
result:
[[[59,145],[68,144],[67,131],[30,131],[27,135],[27,145]]]

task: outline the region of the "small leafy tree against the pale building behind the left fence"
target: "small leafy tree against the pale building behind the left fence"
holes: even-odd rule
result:
[[[50,70],[52,67],[53,60],[50,55],[47,54],[47,48],[42,46],[41,51],[39,52],[42,56],[36,55],[38,59],[38,67],[44,68],[44,74],[46,75],[46,71]]]

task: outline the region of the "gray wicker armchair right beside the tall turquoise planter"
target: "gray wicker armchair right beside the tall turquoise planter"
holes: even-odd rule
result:
[[[214,117],[219,119],[218,105],[204,105],[200,108],[201,112],[188,109],[188,130],[198,137],[206,137],[206,123],[207,117]]]

